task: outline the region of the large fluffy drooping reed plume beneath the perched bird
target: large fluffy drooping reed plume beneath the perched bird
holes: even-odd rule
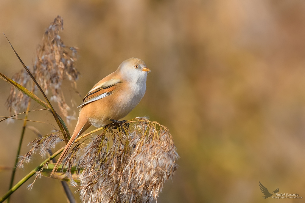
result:
[[[151,202],[176,170],[178,154],[165,126],[145,118],[109,125],[77,162],[82,202]],[[128,128],[128,129],[127,129]],[[109,147],[109,139],[112,146]]]

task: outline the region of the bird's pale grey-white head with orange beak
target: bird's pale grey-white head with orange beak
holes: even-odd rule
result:
[[[150,72],[144,61],[138,58],[126,59],[117,70],[129,82],[146,81],[147,72]]]

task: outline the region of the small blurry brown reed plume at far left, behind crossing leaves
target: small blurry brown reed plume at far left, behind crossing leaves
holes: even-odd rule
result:
[[[25,69],[20,70],[15,75],[13,75],[12,79],[19,83],[20,85],[27,87],[30,76],[26,72]],[[5,105],[7,109],[9,110],[10,114],[19,113],[20,110],[26,109],[27,104],[29,102],[29,97],[23,94],[22,92],[18,91],[13,86],[11,87],[11,91],[9,93],[9,97],[7,98]],[[13,119],[9,119],[9,121],[13,121]]]

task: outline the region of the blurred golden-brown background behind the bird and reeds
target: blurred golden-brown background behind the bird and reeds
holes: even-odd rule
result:
[[[263,199],[259,181],[270,192],[279,187],[280,193],[305,198],[304,1],[2,0],[0,31],[32,65],[57,15],[64,19],[64,43],[79,48],[81,96],[127,58],[141,58],[151,70],[146,94],[127,119],[149,116],[170,129],[177,146],[178,170],[158,202],[282,201]],[[12,77],[21,68],[0,36],[0,72]],[[9,116],[9,90],[1,80],[1,116]],[[66,97],[82,101],[73,90]],[[39,108],[33,102],[31,109]],[[43,111],[29,119],[55,125]],[[1,166],[13,166],[22,124],[0,123]],[[52,130],[30,125],[44,135]],[[34,138],[27,130],[22,154]],[[17,170],[15,183],[41,161],[37,155]],[[0,196],[10,176],[0,171]],[[31,181],[11,202],[66,202],[59,181],[42,177],[28,191]]]

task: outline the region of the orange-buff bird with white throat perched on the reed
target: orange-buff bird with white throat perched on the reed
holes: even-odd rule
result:
[[[92,87],[78,106],[77,124],[50,176],[56,172],[75,139],[91,125],[101,128],[113,121],[122,123],[119,120],[127,116],[143,98],[148,72],[150,70],[144,61],[129,58]]]

